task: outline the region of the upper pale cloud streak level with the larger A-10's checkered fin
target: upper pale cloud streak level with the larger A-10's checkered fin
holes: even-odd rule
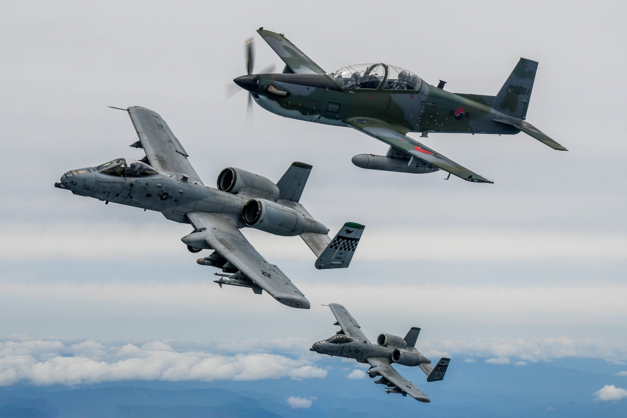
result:
[[[110,234],[111,229],[125,230],[140,235],[148,242],[159,242],[157,247],[137,248],[132,242],[125,243]],[[397,230],[373,228],[369,240],[360,244],[358,257],[372,259],[385,257],[390,260],[466,260],[466,259],[554,259],[556,257],[579,259],[624,259],[621,248],[627,246],[624,235],[608,233],[581,233],[557,231],[489,230],[471,228],[431,230]],[[159,257],[181,250],[180,238],[189,232],[180,225],[168,222],[132,225],[127,223],[53,223],[33,225],[18,223],[0,232],[0,259],[28,259],[33,242],[38,242],[38,257],[65,259],[70,257],[65,249],[72,248],[71,257],[81,259],[119,259],[129,254]],[[414,237],[429,235],[429,244],[418,244]],[[261,245],[266,257],[276,259],[308,260],[304,245],[287,237],[269,237],[263,233],[246,231],[246,236]],[[84,242],[90,245],[82,245]],[[256,245],[255,245],[256,247]]]

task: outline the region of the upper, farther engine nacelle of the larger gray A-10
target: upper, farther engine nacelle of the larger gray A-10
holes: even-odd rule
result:
[[[270,201],[277,201],[280,194],[278,186],[264,176],[233,167],[225,168],[220,172],[218,190]]]

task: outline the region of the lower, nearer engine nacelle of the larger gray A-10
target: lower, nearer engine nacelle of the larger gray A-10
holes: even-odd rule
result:
[[[244,222],[256,228],[283,237],[293,237],[303,232],[328,233],[329,228],[301,213],[265,199],[251,199],[241,212]]]

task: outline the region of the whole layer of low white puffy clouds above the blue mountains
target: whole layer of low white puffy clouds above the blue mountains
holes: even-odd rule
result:
[[[181,341],[110,343],[46,340],[16,335],[0,340],[0,385],[21,381],[34,385],[77,385],[119,380],[208,382],[327,377],[327,370],[315,365],[315,361],[323,356],[311,353],[309,346],[310,341],[299,338],[223,340],[201,344]],[[448,351],[436,351],[430,346],[446,347]],[[470,356],[465,360],[468,362],[480,359],[494,365],[523,366],[527,362],[566,356],[606,358],[614,362],[627,360],[625,346],[602,340],[577,341],[569,338],[425,341],[421,350],[432,359],[463,355]],[[366,373],[355,368],[346,377],[359,379],[366,377]],[[599,400],[612,400],[627,396],[624,394],[627,394],[624,389],[606,386],[594,396]],[[294,399],[294,405],[300,405],[300,398]]]

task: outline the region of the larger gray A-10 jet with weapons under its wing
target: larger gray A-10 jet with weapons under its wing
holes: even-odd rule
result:
[[[116,108],[118,109],[118,108]],[[267,262],[240,232],[250,227],[275,235],[300,237],[317,256],[317,269],[348,267],[364,230],[347,222],[331,240],[329,228],[298,203],[312,166],[293,163],[276,184],[240,168],[225,168],[218,189],[203,185],[187,161],[187,152],[161,116],[144,107],[127,110],[143,148],[139,161],[117,158],[100,166],[68,171],[55,186],[75,195],[161,212],[167,219],[190,223],[181,238],[191,252],[214,250],[198,264],[222,269],[218,283],[262,290],[282,304],[309,309],[303,293],[276,266]]]

